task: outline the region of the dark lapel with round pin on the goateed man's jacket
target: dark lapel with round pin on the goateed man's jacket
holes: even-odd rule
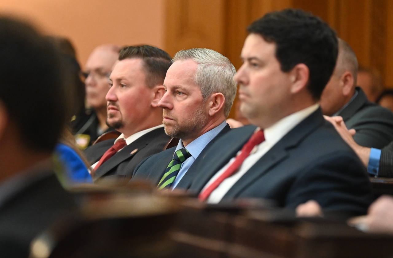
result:
[[[162,128],[158,128],[156,130],[162,130]],[[105,175],[108,173],[111,169],[119,165],[121,162],[131,158],[135,154],[137,154],[142,148],[146,147],[148,145],[152,138],[154,138],[156,130],[153,130],[145,135],[142,135],[130,145],[127,145],[126,147],[123,148],[123,150],[120,150],[118,153],[113,155],[109,160],[104,162],[96,171],[95,171],[95,176],[94,180],[100,178],[101,176]]]

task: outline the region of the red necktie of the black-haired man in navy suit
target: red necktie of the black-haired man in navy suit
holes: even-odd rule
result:
[[[259,145],[261,142],[265,140],[263,135],[263,130],[258,130],[255,132],[248,142],[243,146],[241,153],[236,157],[235,161],[226,169],[224,173],[222,173],[210,186],[208,186],[204,191],[202,191],[198,199],[204,201],[208,199],[210,194],[224,181],[226,178],[230,177],[235,171],[240,167],[243,161],[250,155],[250,152],[255,147],[255,145]]]

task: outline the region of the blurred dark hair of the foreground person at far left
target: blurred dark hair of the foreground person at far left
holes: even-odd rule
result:
[[[0,17],[0,100],[26,147],[51,152],[65,121],[59,52],[24,22]]]

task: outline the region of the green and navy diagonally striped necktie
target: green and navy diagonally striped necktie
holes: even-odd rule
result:
[[[192,155],[185,148],[181,148],[174,153],[173,160],[169,163],[167,169],[165,169],[165,173],[162,176],[161,181],[158,183],[158,190],[172,186],[174,179],[180,171],[182,163],[191,156]]]

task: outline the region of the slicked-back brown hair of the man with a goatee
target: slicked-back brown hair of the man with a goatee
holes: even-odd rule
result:
[[[163,84],[169,67],[171,56],[155,46],[125,46],[120,50],[119,60],[140,58],[143,60],[147,87]]]

